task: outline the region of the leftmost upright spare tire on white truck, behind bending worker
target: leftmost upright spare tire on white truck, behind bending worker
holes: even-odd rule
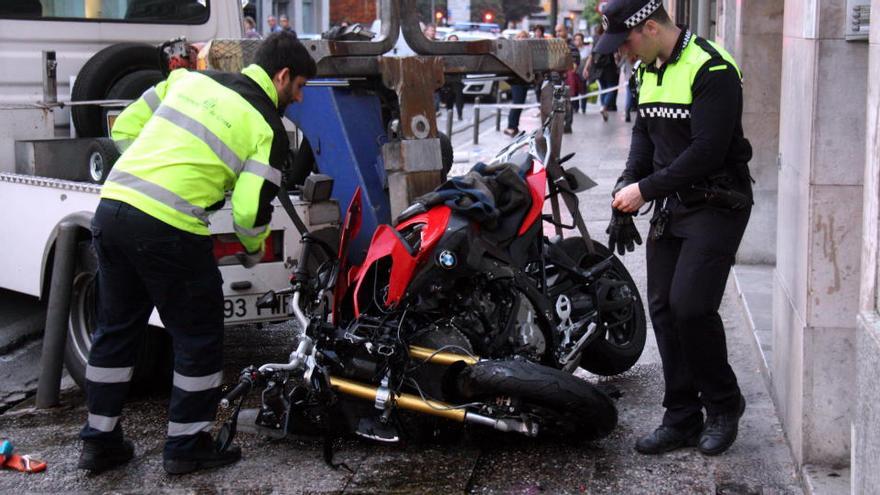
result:
[[[127,74],[158,70],[159,52],[146,43],[117,43],[96,53],[76,76],[70,98],[73,101],[106,99],[110,89]],[[80,137],[100,137],[104,131],[100,106],[71,108],[73,125]]]

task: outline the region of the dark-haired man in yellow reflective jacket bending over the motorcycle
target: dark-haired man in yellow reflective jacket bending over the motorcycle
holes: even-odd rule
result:
[[[272,198],[289,148],[285,107],[302,101],[316,67],[296,35],[275,33],[240,74],[179,69],[119,115],[124,153],[92,222],[98,256],[97,330],[86,368],[88,421],[79,468],[130,460],[122,405],[155,306],[173,340],[164,468],[181,474],[237,461],[211,428],[223,378],[223,291],[208,231],[232,192],[235,232],[253,266],[269,235]]]

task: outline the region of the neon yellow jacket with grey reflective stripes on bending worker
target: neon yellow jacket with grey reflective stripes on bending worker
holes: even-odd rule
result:
[[[259,250],[289,148],[262,68],[175,70],[119,115],[112,137],[125,151],[101,197],[208,235],[209,214],[232,191],[235,232],[248,251]]]

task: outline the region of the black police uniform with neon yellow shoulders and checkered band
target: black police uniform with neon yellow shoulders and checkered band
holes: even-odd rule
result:
[[[648,300],[666,381],[663,424],[689,429],[704,407],[710,416],[741,407],[718,308],[752,204],[742,79],[730,55],[683,27],[666,63],[644,64],[637,80],[622,179],[655,202]]]

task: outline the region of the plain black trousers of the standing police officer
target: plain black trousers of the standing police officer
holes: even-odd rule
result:
[[[663,424],[686,428],[736,410],[740,390],[727,361],[718,308],[750,211],[686,208],[670,201],[659,240],[647,242],[648,300],[663,361]]]

